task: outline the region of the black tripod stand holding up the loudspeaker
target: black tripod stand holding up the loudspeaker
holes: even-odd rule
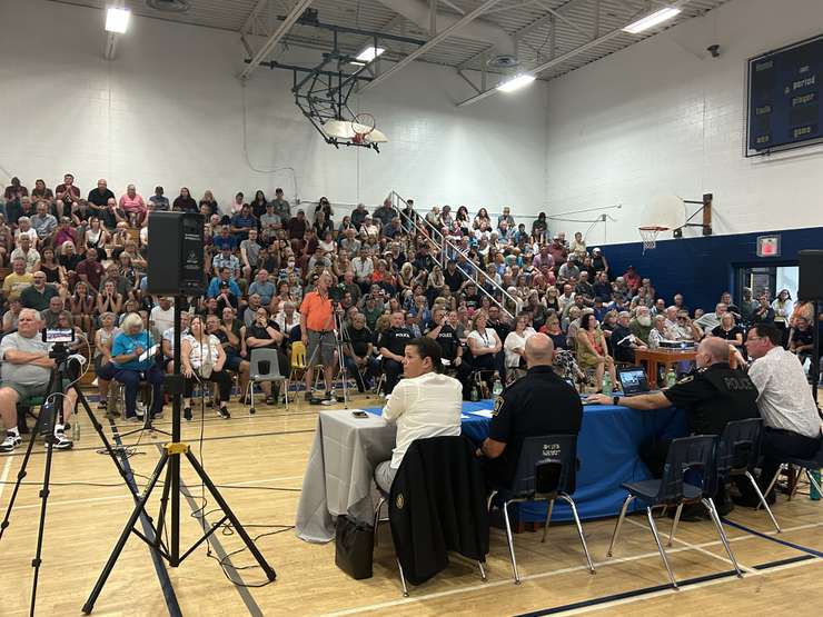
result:
[[[195,455],[191,452],[188,444],[185,444],[181,440],[180,410],[182,408],[185,381],[180,375],[180,306],[184,301],[185,298],[181,296],[175,298],[175,368],[173,375],[167,376],[166,378],[166,389],[172,395],[171,441],[163,446],[162,455],[160,456],[160,460],[158,460],[155,470],[151,472],[148,485],[143,489],[142,495],[140,495],[140,497],[138,498],[137,504],[135,505],[135,509],[132,510],[131,516],[129,516],[129,519],[126,523],[126,527],[120,534],[120,537],[118,538],[108,561],[103,566],[102,573],[100,573],[100,577],[98,578],[93,589],[91,590],[91,595],[89,595],[89,598],[86,600],[86,604],[82,607],[82,611],[86,615],[89,615],[93,610],[95,603],[97,601],[100,591],[102,591],[102,588],[106,585],[111,570],[115,568],[115,565],[120,557],[120,553],[126,546],[126,541],[129,539],[129,536],[131,534],[135,534],[149,547],[151,547],[151,549],[155,550],[160,557],[166,559],[169,563],[169,566],[176,568],[184,561],[184,559],[191,555],[195,549],[200,546],[200,544],[207,540],[209,536],[211,536],[211,534],[214,534],[219,528],[220,525],[228,520],[234,526],[235,531],[237,531],[237,535],[240,537],[240,539],[242,539],[244,544],[249,549],[249,553],[251,553],[252,557],[265,573],[266,578],[271,581],[275,580],[275,578],[277,577],[275,569],[268,565],[262,554],[258,550],[257,546],[255,546],[254,540],[246,533],[246,529],[242,527],[237,516],[235,516],[235,514],[231,511],[231,508],[229,508],[229,505],[222,498],[219,490],[217,490],[217,487],[211,481],[211,478],[209,478],[206,470],[197,460],[197,457],[195,457]],[[181,457],[186,457],[186,460],[188,460],[189,465],[191,465],[191,468],[198,475],[200,480],[202,480],[202,484],[206,486],[209,494],[211,495],[211,497],[214,497],[215,501],[220,507],[224,514],[222,518],[220,518],[218,523],[214,524],[211,528],[208,529],[200,537],[200,539],[191,545],[191,547],[182,555],[180,555]],[[140,518],[140,515],[146,511],[146,504],[151,497],[151,492],[157,486],[157,482],[160,479],[160,475],[163,474],[163,471],[166,472],[166,476],[163,478],[162,495],[160,497],[160,514],[157,519],[157,525],[155,525],[153,523],[149,523],[155,537],[155,539],[151,540],[146,535],[143,535],[142,531],[138,530],[136,525],[138,519]],[[162,535],[167,509],[170,509],[171,511],[171,521],[169,524],[171,541],[168,546],[163,541]]]

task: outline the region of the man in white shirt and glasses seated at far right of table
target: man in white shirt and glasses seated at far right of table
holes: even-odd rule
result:
[[[754,359],[748,377],[760,392],[757,409],[764,425],[763,488],[786,458],[813,458],[821,447],[821,419],[812,389],[797,356],[783,349],[781,331],[771,324],[757,324],[746,338],[746,350]],[[753,495],[744,495],[743,501],[757,505]]]

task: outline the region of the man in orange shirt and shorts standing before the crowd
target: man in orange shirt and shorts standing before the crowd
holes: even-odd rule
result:
[[[323,364],[326,381],[326,400],[331,400],[331,379],[337,365],[335,317],[328,288],[331,275],[324,271],[317,279],[315,291],[306,293],[300,305],[300,338],[306,346],[306,398],[311,397],[314,365]],[[319,361],[318,361],[319,360]]]

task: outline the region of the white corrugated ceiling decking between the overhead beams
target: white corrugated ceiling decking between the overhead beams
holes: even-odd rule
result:
[[[112,3],[111,0],[52,1],[98,9]],[[482,4],[482,0],[437,1],[439,11],[458,17]],[[654,28],[644,36],[621,32],[544,70],[539,77],[552,79],[575,70],[666,28],[702,16],[727,1],[731,0],[690,0],[684,3],[683,12],[664,26]],[[252,20],[252,28],[256,33],[264,36],[275,30],[279,23],[277,16],[287,14],[294,3],[291,0],[189,0],[189,2],[190,9],[184,13],[151,9],[146,0],[123,0],[122,3],[138,16],[218,28],[239,34],[244,31],[249,16],[259,2],[260,10],[257,11],[257,18]],[[518,36],[518,50],[523,66],[529,68],[573,51],[579,46],[625,26],[639,12],[658,6],[662,3],[657,0],[652,2],[647,0],[500,0],[479,19],[502,28],[509,36],[517,36],[518,32],[527,29],[526,34]],[[405,20],[381,4],[379,0],[315,0],[311,8],[318,11],[319,21],[324,23],[423,40],[429,38],[425,29]],[[552,11],[559,12],[561,18],[555,17],[552,20]],[[552,26],[553,21],[554,26]],[[529,26],[533,27],[529,28]],[[552,44],[553,29],[554,44]],[[329,50],[331,32],[298,23],[290,29],[284,40],[287,44]],[[357,53],[366,40],[363,36],[340,34],[338,42],[341,52]],[[394,60],[403,58],[416,48],[414,44],[390,41],[387,41],[385,47],[388,49],[386,58]],[[479,69],[483,64],[483,52],[488,48],[487,42],[453,36],[424,53],[419,60],[455,68]]]

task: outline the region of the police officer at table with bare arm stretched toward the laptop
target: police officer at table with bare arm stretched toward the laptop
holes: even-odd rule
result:
[[[677,407],[686,412],[691,435],[720,435],[731,421],[760,417],[757,388],[745,372],[728,366],[728,355],[727,341],[708,337],[697,347],[697,371],[671,388],[636,397],[594,395],[588,400],[643,410]],[[663,475],[670,444],[670,439],[655,439],[641,448],[641,458],[657,478]],[[726,497],[725,487],[717,487],[714,499],[721,516],[734,507]],[[702,515],[700,507],[691,512],[684,508],[681,520],[695,520]]]

